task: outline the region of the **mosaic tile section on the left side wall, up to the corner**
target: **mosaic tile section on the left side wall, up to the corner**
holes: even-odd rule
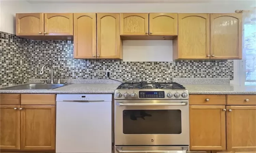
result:
[[[30,78],[30,40],[0,32],[0,86],[27,83]]]

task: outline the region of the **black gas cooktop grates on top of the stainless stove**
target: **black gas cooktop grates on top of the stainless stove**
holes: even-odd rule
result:
[[[124,82],[117,89],[185,89],[176,82],[140,81]]]

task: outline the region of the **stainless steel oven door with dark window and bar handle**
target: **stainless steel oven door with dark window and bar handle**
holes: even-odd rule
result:
[[[188,100],[115,100],[115,145],[189,145]]]

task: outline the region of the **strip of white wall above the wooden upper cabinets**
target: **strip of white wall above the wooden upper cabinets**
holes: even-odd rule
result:
[[[229,1],[229,3],[157,3],[157,4],[31,4],[32,12],[96,12],[96,13],[234,13],[247,10],[250,3]]]

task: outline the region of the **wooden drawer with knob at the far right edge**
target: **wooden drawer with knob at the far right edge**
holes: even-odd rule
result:
[[[256,95],[227,95],[227,105],[256,105]]]

